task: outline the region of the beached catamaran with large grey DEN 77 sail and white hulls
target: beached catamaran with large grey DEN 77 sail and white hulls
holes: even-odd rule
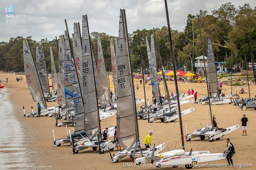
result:
[[[125,156],[135,158],[135,155],[143,155],[152,152],[153,148],[141,148],[139,139],[139,128],[136,112],[134,84],[131,70],[131,55],[128,41],[128,31],[125,17],[125,10],[120,10],[119,19],[119,40],[118,40],[118,84],[117,84],[117,138],[118,144],[124,150],[111,155],[112,162],[118,162]],[[157,146],[161,152],[164,144]],[[158,153],[159,153],[158,152]]]

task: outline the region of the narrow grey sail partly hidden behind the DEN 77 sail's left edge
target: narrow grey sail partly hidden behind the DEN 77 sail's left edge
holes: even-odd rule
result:
[[[110,40],[110,53],[111,53],[111,65],[112,65],[114,89],[115,89],[115,93],[117,94],[116,48],[115,48],[113,39]]]

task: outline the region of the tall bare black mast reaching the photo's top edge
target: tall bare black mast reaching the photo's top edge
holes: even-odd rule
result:
[[[174,61],[174,56],[172,56],[173,55],[173,53],[172,53],[173,52],[173,49],[172,49],[172,35],[171,35],[171,28],[170,28],[170,21],[169,21],[169,14],[168,14],[168,7],[167,7],[167,1],[166,0],[164,0],[164,4],[165,4],[165,12],[166,12],[166,19],[167,19],[167,26],[168,26],[168,33],[169,33],[171,58],[172,58],[172,64],[173,64],[173,74],[174,74],[174,80],[175,80],[175,88],[176,88],[176,94],[177,94],[177,104],[178,104],[179,119],[180,119],[181,142],[182,142],[182,148],[185,150],[182,120],[181,120],[181,110],[180,110],[180,96],[179,96],[178,82],[177,82],[177,76],[176,76],[175,61]]]

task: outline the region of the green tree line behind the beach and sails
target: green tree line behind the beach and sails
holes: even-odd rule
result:
[[[202,55],[198,16],[200,19],[203,41],[205,39],[205,42],[203,42],[204,49],[207,50],[207,38],[211,37],[216,62],[226,61],[224,66],[230,68],[231,65],[233,65],[236,71],[239,71],[241,68],[245,69],[244,49],[247,62],[251,62],[252,56],[254,56],[254,58],[256,56],[256,7],[252,8],[250,4],[244,4],[243,6],[236,8],[235,5],[230,2],[222,4],[220,8],[211,11],[211,14],[209,11],[203,10],[200,10],[199,13],[194,15],[188,14],[186,26],[183,31],[171,30],[174,50],[173,56],[175,57],[176,66],[186,66],[187,70],[193,71],[195,70],[194,58]],[[155,28],[155,31],[164,68],[172,69],[167,27],[163,26],[162,28]],[[132,67],[134,71],[140,70],[141,64],[143,64],[143,68],[149,67],[145,38],[148,37],[150,43],[150,35],[152,33],[153,28],[150,30],[136,30],[129,34]],[[90,33],[95,57],[97,57],[96,49],[98,35],[101,37],[106,68],[111,71],[110,40],[117,37],[106,33]],[[28,36],[27,38],[34,58],[36,56],[36,46],[44,47],[48,72],[51,72],[50,46],[52,46],[55,65],[58,71],[58,49],[56,40],[53,39],[52,41],[49,41],[45,38],[41,41],[35,41],[32,36]],[[249,38],[251,39],[251,44],[249,43]],[[23,39],[24,37],[18,36],[16,38],[10,38],[9,42],[0,42],[1,70],[24,71],[22,50]],[[140,54],[142,55],[142,63]],[[158,68],[160,68],[157,52],[156,61]]]

